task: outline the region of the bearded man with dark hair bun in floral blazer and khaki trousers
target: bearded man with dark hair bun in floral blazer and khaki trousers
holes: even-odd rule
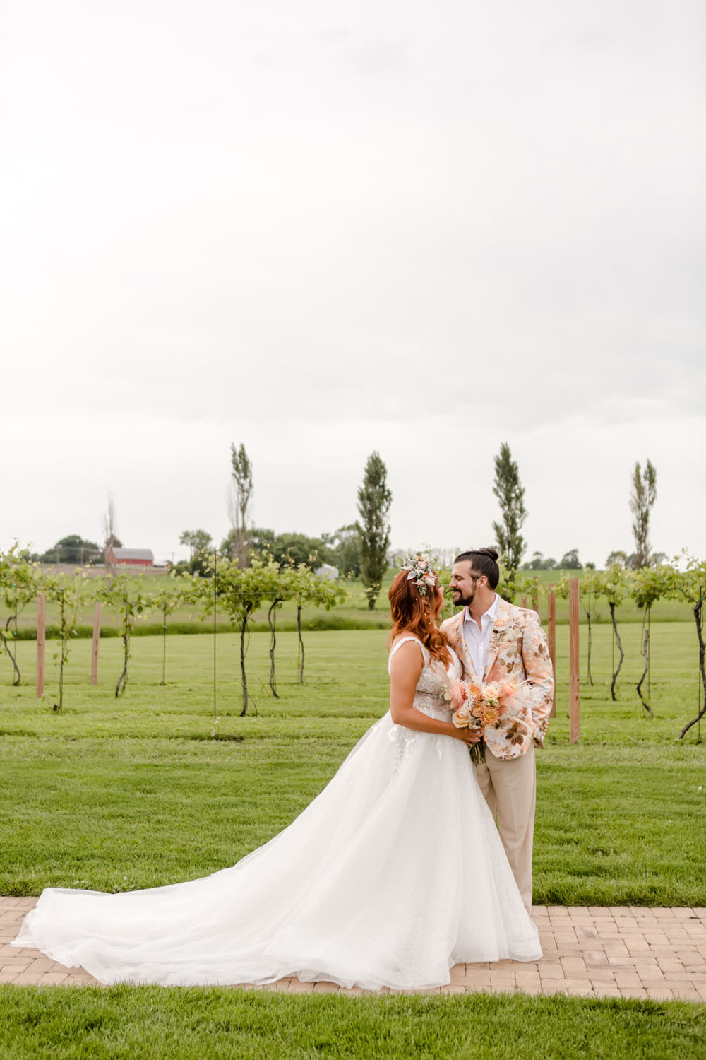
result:
[[[546,637],[533,611],[514,607],[495,593],[497,552],[479,548],[456,556],[451,576],[455,606],[464,610],[441,623],[476,685],[528,681],[536,686],[531,709],[504,714],[483,730],[485,762],[476,777],[497,819],[505,853],[527,908],[532,903],[532,836],[537,777],[535,747],[544,743],[554,695]],[[539,704],[539,705],[537,705]]]

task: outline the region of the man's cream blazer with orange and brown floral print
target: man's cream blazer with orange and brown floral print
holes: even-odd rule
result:
[[[464,664],[465,679],[483,685],[529,681],[544,693],[540,706],[508,709],[495,725],[487,725],[483,731],[486,748],[495,758],[509,759],[526,754],[532,743],[542,747],[554,700],[554,673],[539,615],[500,599],[485,673],[476,674],[464,636],[465,614],[466,608],[441,622],[441,630]]]

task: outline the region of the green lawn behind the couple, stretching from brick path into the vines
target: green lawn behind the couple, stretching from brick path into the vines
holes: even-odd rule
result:
[[[653,623],[654,721],[634,692],[636,626],[613,704],[610,630],[595,636],[594,688],[582,688],[581,742],[568,746],[566,631],[559,631],[558,717],[538,756],[535,900],[567,904],[706,905],[706,756],[694,727],[694,635]],[[236,640],[216,638],[219,738],[213,732],[213,641],[168,639],[160,686],[159,638],[134,641],[124,699],[112,695],[120,643],[101,644],[91,687],[90,643],[76,641],[66,707],[52,711],[32,685],[0,686],[0,893],[48,884],[117,890],[171,883],[233,864],[285,827],[324,787],[387,707],[385,636],[307,635],[307,683],[295,683],[295,637],[278,643],[278,688],[267,687],[268,638],[248,657],[257,713],[239,718]],[[19,644],[31,679],[35,646]],[[4,678],[10,678],[6,659]]]

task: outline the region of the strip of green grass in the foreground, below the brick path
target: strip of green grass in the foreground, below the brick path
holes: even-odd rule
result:
[[[10,986],[0,1013],[2,1060],[699,1060],[706,1035],[703,1005],[522,994]]]

